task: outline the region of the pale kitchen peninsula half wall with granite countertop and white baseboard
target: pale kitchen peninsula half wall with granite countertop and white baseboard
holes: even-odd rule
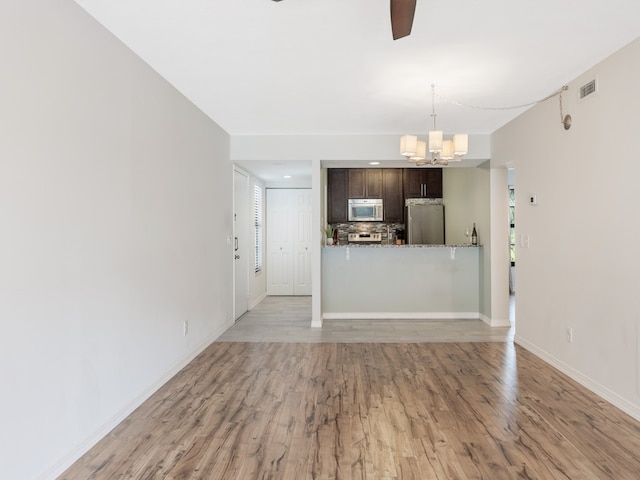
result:
[[[324,247],[323,317],[481,318],[481,251],[470,245]]]

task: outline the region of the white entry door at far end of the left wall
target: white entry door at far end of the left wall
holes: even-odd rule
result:
[[[249,177],[233,171],[233,314],[237,320],[249,309]]]

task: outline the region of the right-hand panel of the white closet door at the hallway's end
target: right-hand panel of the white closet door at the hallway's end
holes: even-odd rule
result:
[[[311,190],[293,190],[294,295],[311,295]]]

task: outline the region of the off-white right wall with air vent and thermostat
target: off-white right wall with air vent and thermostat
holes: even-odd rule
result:
[[[593,78],[598,93],[579,101]],[[516,341],[638,419],[639,84],[635,41],[569,84],[569,131],[554,98],[492,139],[492,165],[515,167],[516,233],[529,236],[517,252]]]

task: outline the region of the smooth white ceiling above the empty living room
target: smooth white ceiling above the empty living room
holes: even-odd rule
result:
[[[640,36],[637,0],[76,0],[231,135],[489,134]],[[462,106],[460,105],[462,104]]]

